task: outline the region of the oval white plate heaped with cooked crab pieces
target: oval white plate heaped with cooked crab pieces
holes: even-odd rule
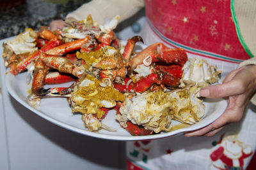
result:
[[[10,94],[54,124],[104,139],[166,138],[220,117],[227,103],[199,96],[220,80],[218,67],[140,36],[121,41],[118,18],[99,25],[88,15],[4,41]]]

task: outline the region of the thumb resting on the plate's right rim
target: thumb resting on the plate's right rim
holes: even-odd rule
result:
[[[205,87],[200,90],[201,97],[208,98],[223,98],[227,96],[235,96],[241,94],[243,92],[243,82],[237,80],[231,80],[226,83],[220,85],[212,85],[209,87]]]

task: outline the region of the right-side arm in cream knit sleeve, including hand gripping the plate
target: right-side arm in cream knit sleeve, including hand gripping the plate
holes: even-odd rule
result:
[[[246,52],[256,55],[256,1],[232,1],[232,12],[237,34]],[[231,71],[220,85],[205,87],[200,96],[225,98],[228,106],[224,113],[212,124],[185,136],[213,136],[230,122],[239,122],[249,101],[256,104],[256,57],[241,62],[238,69]]]

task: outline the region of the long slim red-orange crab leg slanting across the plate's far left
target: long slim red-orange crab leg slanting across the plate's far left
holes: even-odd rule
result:
[[[58,46],[60,44],[61,44],[61,41],[58,39],[50,40],[49,43],[47,43],[47,45],[43,46],[40,50],[32,53],[31,55],[29,55],[29,57],[19,62],[17,66],[10,69],[10,73],[12,73],[13,75],[16,75],[22,71],[25,71],[27,69],[26,67],[28,66],[28,64],[30,64],[33,60],[35,60],[36,57],[40,55],[40,53],[44,53],[47,50],[50,50],[51,48],[54,48],[55,46]]]

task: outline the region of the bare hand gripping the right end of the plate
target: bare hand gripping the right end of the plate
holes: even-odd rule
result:
[[[220,85],[212,85],[200,90],[200,96],[225,98],[228,105],[224,113],[212,124],[202,129],[186,132],[186,137],[213,136],[230,122],[239,122],[250,97],[256,91],[256,65],[248,65],[231,71]]]

